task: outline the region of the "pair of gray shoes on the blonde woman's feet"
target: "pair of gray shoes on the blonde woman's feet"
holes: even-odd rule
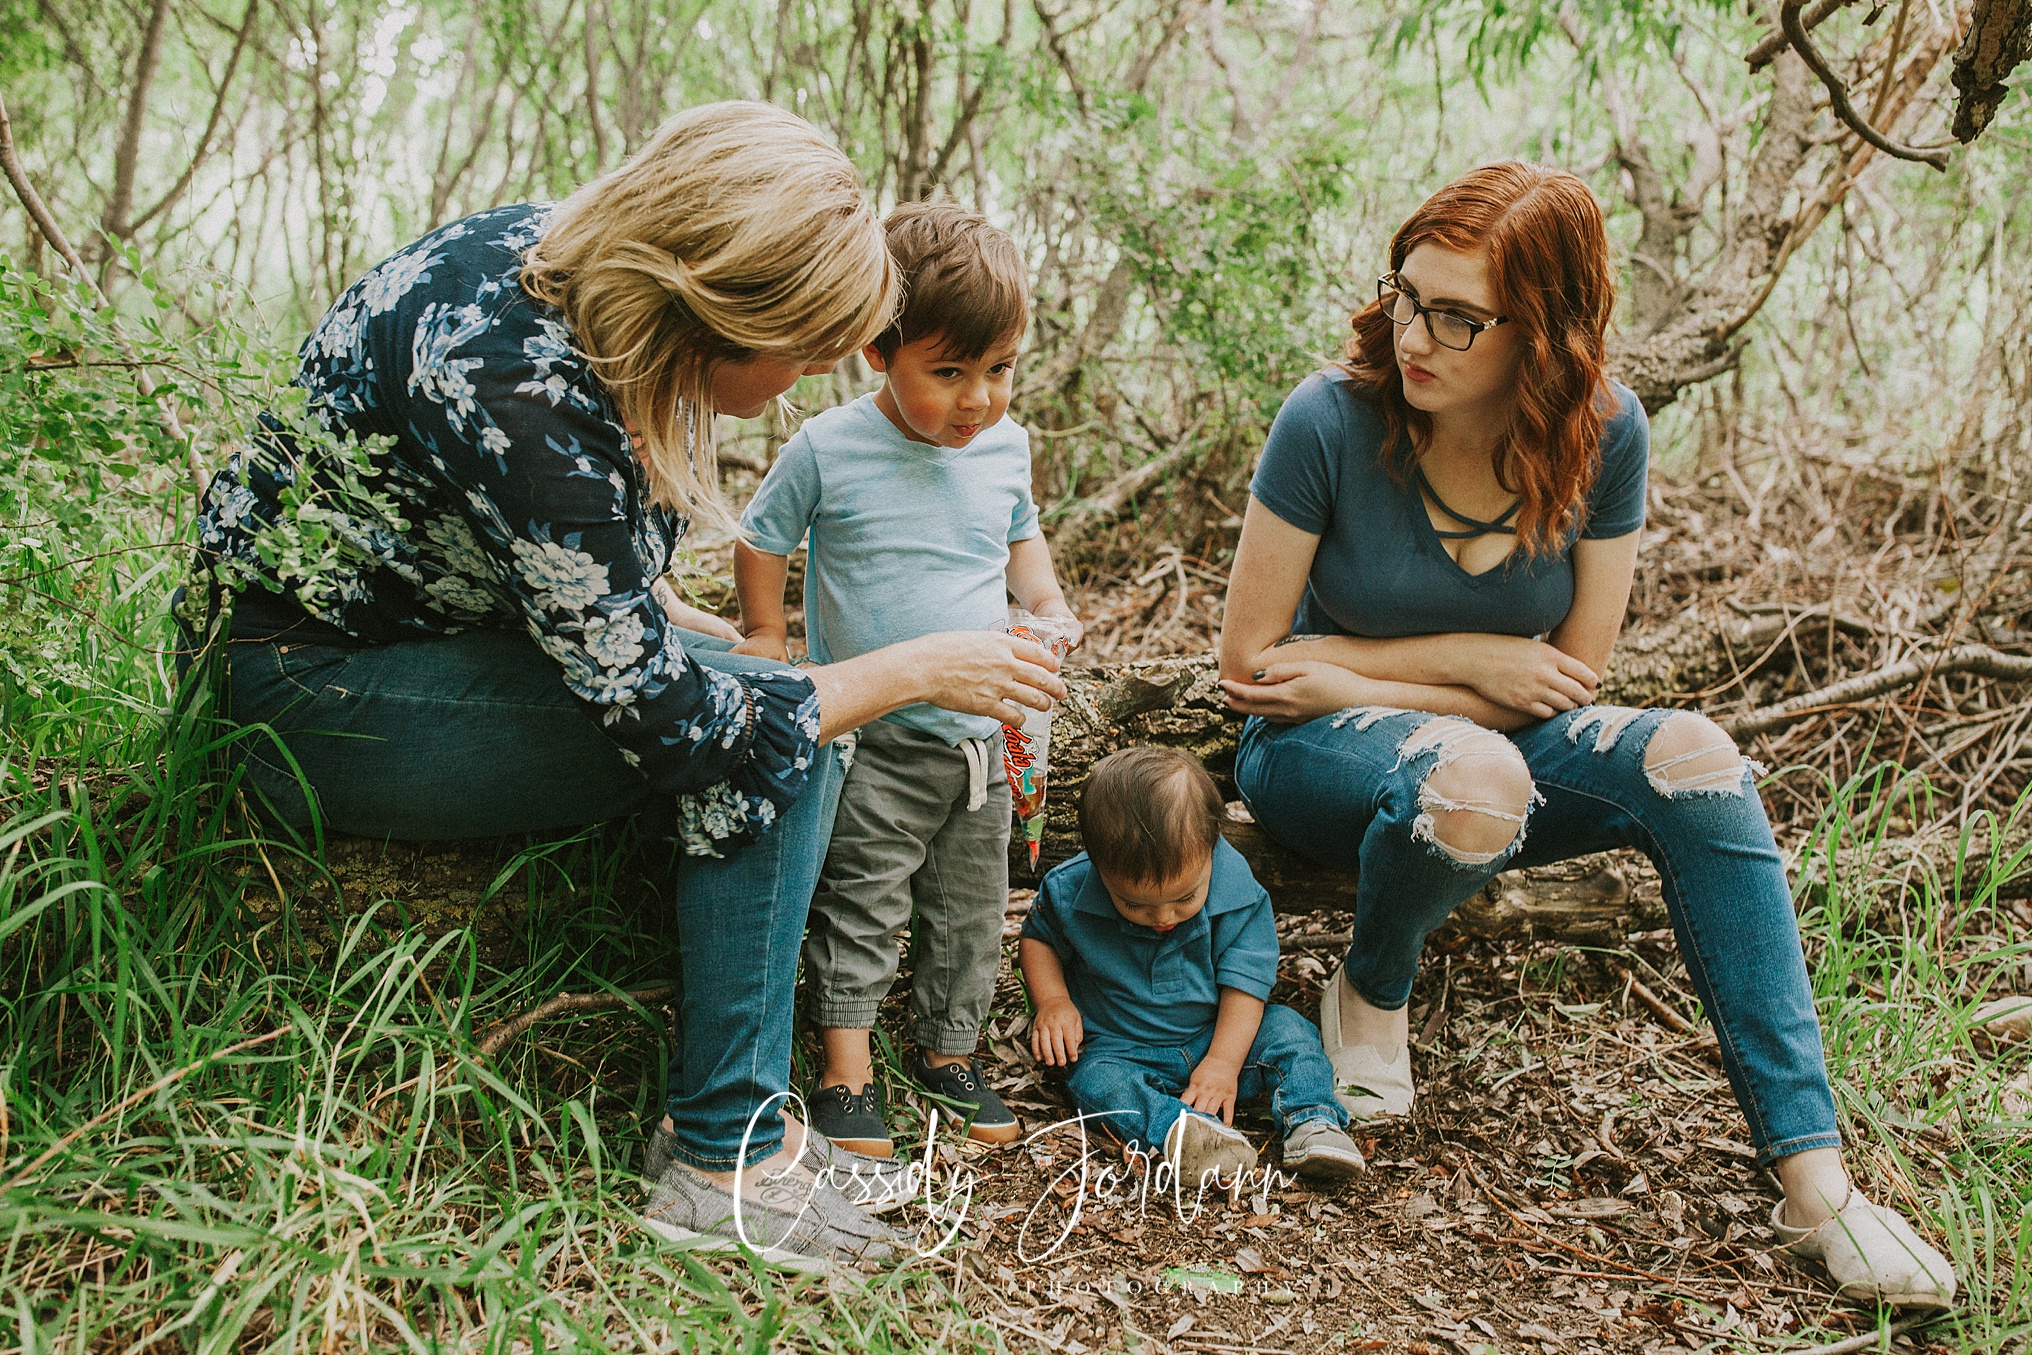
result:
[[[642,1227],[683,1247],[748,1247],[764,1262],[817,1270],[827,1262],[886,1262],[910,1243],[823,1180],[754,1176],[758,1199],[736,1201],[681,1162],[656,1180]]]

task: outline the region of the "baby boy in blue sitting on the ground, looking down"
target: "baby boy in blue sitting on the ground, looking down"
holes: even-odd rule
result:
[[[1319,1030],[1270,1006],[1276,920],[1221,839],[1221,792],[1197,758],[1124,748],[1079,798],[1087,849],[1044,876],[1022,928],[1038,1062],[1071,1064],[1073,1101],[1122,1142],[1162,1154],[1185,1188],[1233,1184],[1256,1150],[1235,1101],[1270,1097],[1284,1168],[1363,1168]]]

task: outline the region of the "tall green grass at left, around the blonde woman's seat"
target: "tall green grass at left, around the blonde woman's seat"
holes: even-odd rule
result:
[[[994,1345],[941,1272],[801,1280],[638,1231],[640,1020],[593,1028],[622,1081],[555,1030],[571,1052],[478,1056],[534,993],[662,977],[626,843],[508,863],[512,965],[473,918],[315,908],[205,707],[165,715],[161,587],[98,583],[89,681],[16,689],[0,750],[0,1349]]]

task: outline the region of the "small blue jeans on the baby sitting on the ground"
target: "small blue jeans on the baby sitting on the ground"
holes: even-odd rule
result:
[[[1193,1069],[1211,1044],[1213,1026],[1181,1048],[1087,1036],[1067,1079],[1073,1103],[1124,1144],[1154,1152],[1187,1111],[1179,1093],[1193,1081]],[[1278,1138],[1309,1119],[1347,1123],[1347,1111],[1333,1099],[1333,1064],[1319,1044],[1319,1030],[1290,1008],[1264,1008],[1264,1024],[1256,1028],[1256,1042],[1242,1062],[1235,1099],[1260,1095],[1270,1097]]]

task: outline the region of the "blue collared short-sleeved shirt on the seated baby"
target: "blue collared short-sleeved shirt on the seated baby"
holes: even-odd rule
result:
[[[1022,934],[1065,967],[1089,1036],[1179,1048],[1221,1012],[1221,989],[1268,1002],[1276,987],[1276,918],[1242,853],[1213,845],[1207,906],[1168,932],[1130,922],[1087,853],[1044,876]]]

